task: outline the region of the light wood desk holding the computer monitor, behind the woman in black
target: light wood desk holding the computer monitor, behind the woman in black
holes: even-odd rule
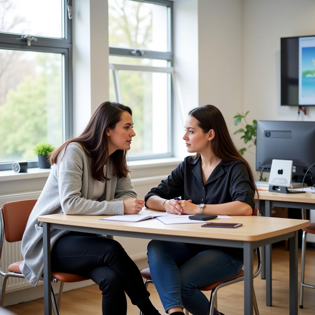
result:
[[[266,187],[258,187],[258,189],[266,189]],[[259,191],[259,201],[256,203],[257,208],[261,211],[261,207],[265,205],[264,215],[271,217],[271,207],[288,207],[296,209],[312,209],[315,208],[315,194],[304,192],[300,194],[284,194],[280,192],[269,192],[268,190]],[[262,212],[262,211],[261,211]],[[304,215],[306,219],[306,215]],[[266,278],[266,305],[272,306],[272,246],[267,245],[266,250],[262,248],[262,269],[261,278]]]

